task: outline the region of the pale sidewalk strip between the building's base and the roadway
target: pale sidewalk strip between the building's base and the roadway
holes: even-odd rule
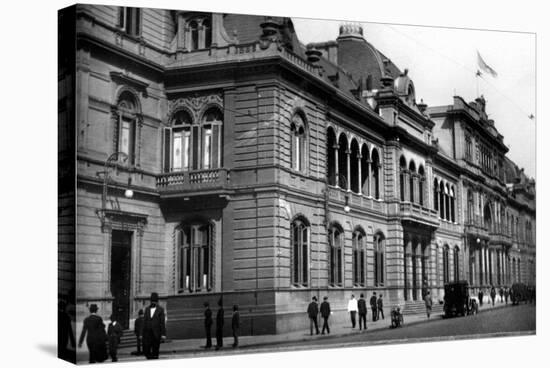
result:
[[[485,299],[485,298],[484,298]],[[483,306],[479,308],[478,313],[487,312],[495,308],[502,308],[511,306],[509,302],[505,304],[504,302],[495,301],[495,306],[488,303],[483,303]],[[389,312],[389,311],[388,311]],[[224,337],[224,347],[221,350],[216,351],[214,346],[211,349],[204,349],[205,338],[200,339],[184,339],[184,340],[170,340],[160,345],[160,358],[170,358],[172,355],[189,355],[189,356],[210,356],[216,354],[235,354],[238,353],[240,348],[254,348],[254,347],[269,347],[270,344],[285,343],[285,342],[298,342],[298,341],[311,341],[312,344],[315,344],[316,340],[324,338],[334,338],[335,336],[347,336],[352,334],[363,334],[369,333],[372,331],[382,330],[390,328],[391,318],[389,317],[390,313],[387,313],[386,319],[380,319],[376,322],[372,320],[367,320],[367,330],[359,331],[359,325],[356,325],[356,328],[351,328],[351,322],[348,324],[334,324],[330,325],[331,333],[328,335],[313,335],[309,334],[309,328],[303,331],[294,331],[284,334],[277,335],[257,335],[257,336],[239,336],[239,348],[233,349],[233,338],[231,336]],[[371,316],[370,314],[368,315]],[[304,313],[304,318],[307,318]],[[426,314],[415,314],[408,315],[404,317],[404,326],[410,326],[419,323],[428,323],[430,321],[437,321],[443,318],[443,313],[432,314],[428,319]],[[321,325],[319,325],[321,328]],[[216,344],[215,336],[212,336],[212,343]],[[118,352],[119,361],[131,361],[131,360],[144,360],[143,356],[134,356],[131,354],[132,351],[135,351],[135,348],[125,348],[120,349]],[[245,350],[247,353],[251,353],[250,350]],[[77,354],[79,361],[87,361],[88,352],[86,349],[81,349]]]

